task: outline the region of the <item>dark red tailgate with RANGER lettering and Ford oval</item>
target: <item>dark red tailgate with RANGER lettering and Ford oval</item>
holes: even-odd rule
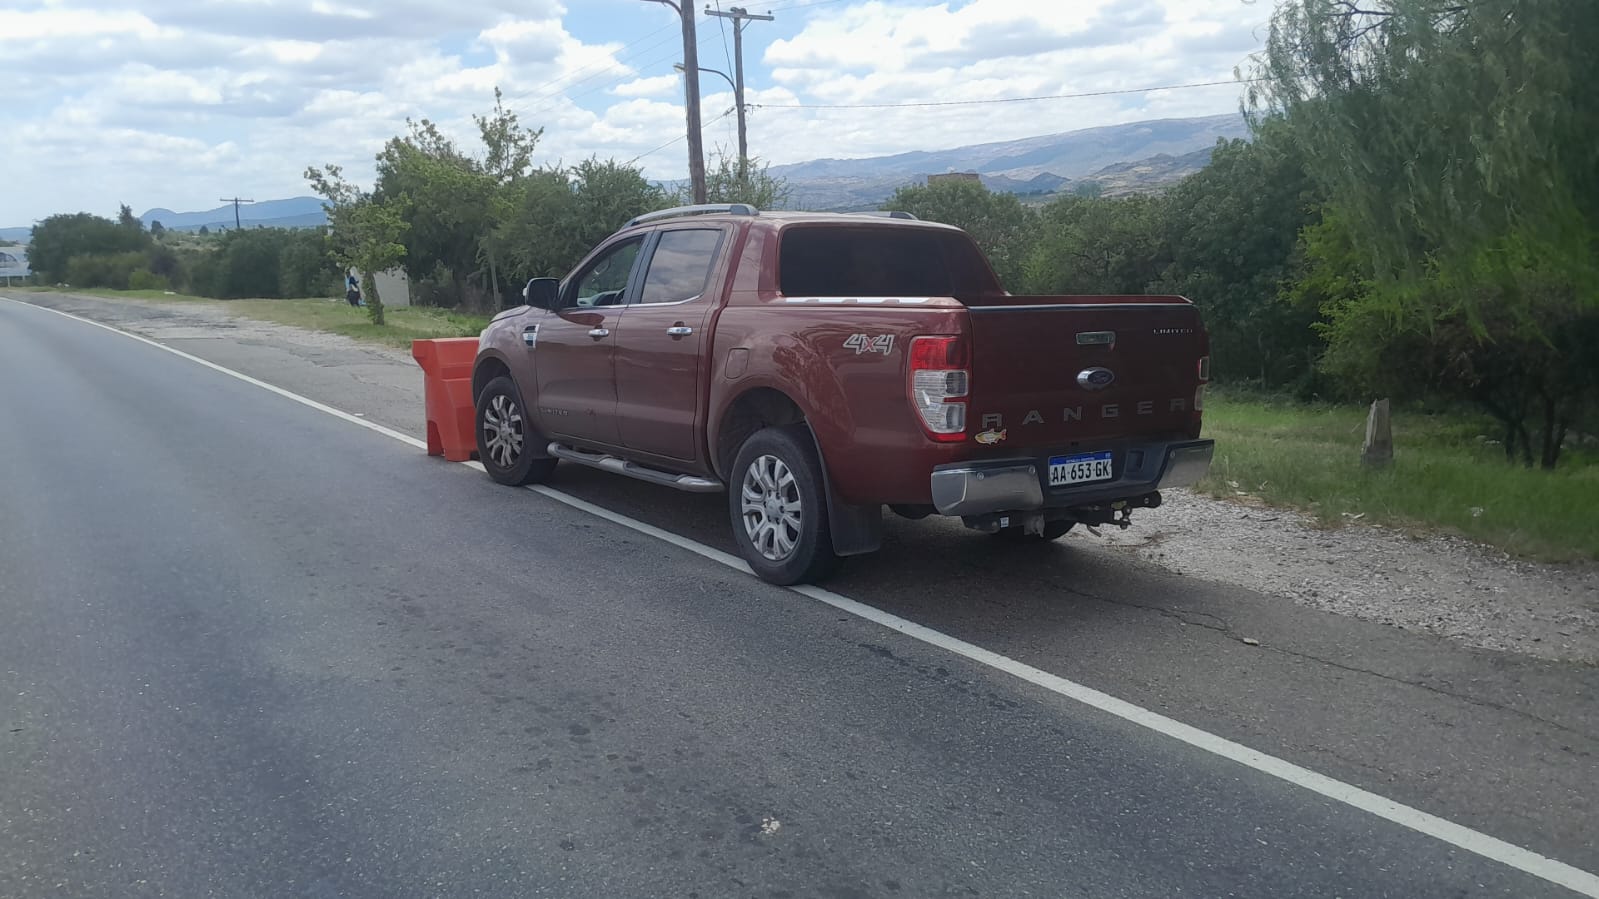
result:
[[[1175,296],[971,306],[969,432],[996,451],[1196,435],[1199,312]]]

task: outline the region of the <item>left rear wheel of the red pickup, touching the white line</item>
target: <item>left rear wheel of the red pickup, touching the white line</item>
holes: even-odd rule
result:
[[[838,557],[815,443],[803,426],[755,432],[734,457],[728,483],[732,541],[771,584],[827,577]]]

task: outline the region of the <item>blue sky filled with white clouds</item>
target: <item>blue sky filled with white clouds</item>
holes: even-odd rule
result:
[[[774,165],[1234,112],[1238,83],[1143,88],[1230,82],[1271,16],[1270,0],[745,8],[774,16],[744,32],[750,154]],[[732,74],[731,22],[696,22],[699,64]],[[681,59],[678,13],[654,0],[6,0],[0,226],[307,195],[309,165],[369,186],[374,154],[406,118],[477,149],[472,115],[492,109],[496,86],[544,128],[537,163],[636,160],[678,179]],[[700,90],[707,155],[731,155],[732,91],[715,74]],[[1094,91],[1134,93],[881,107]]]

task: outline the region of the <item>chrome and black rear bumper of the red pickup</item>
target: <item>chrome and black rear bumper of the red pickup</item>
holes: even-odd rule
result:
[[[951,462],[932,470],[932,505],[943,515],[1071,509],[1191,486],[1210,469],[1214,440],[1129,443],[1115,448],[1107,481],[1049,486],[1049,456]]]

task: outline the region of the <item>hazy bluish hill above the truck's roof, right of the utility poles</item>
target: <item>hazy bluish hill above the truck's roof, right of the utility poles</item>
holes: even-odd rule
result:
[[[788,179],[793,203],[811,210],[878,205],[897,187],[945,171],[975,171],[990,190],[1011,194],[1052,194],[1081,179],[1100,181],[1105,194],[1126,194],[1191,174],[1204,166],[1193,154],[1209,160],[1217,138],[1246,136],[1249,126],[1236,114],[1161,118],[948,150],[776,165],[771,174]]]

